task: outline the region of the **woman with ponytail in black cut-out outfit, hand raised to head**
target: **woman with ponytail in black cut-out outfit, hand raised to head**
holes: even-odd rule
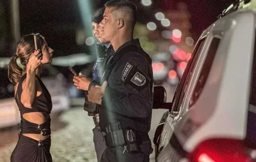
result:
[[[8,78],[15,85],[15,100],[21,116],[18,143],[11,162],[52,161],[50,154],[51,96],[40,79],[42,65],[52,62],[53,50],[40,35],[42,49],[35,50],[34,35],[22,36],[8,66]],[[39,34],[38,34],[39,35]],[[17,59],[24,67],[17,64]],[[24,70],[23,70],[24,69]]]

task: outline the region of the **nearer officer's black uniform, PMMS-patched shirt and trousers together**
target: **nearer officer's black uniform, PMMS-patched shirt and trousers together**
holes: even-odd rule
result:
[[[105,80],[108,87],[99,114],[100,128],[107,134],[105,139],[108,147],[101,161],[149,161],[152,152],[148,132],[152,115],[153,73],[151,59],[141,48],[138,39],[126,42],[111,56],[101,84]],[[120,123],[126,141],[121,146],[112,145],[116,142],[110,140],[114,137],[109,137],[109,129],[106,129],[117,123]],[[127,130],[135,134],[139,150],[130,152],[127,149],[134,147],[127,145]]]

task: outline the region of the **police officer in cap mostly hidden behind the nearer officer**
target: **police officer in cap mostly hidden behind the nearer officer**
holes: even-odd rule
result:
[[[95,12],[92,19],[92,31],[94,38],[97,41],[98,47],[98,60],[94,64],[92,69],[92,79],[86,75],[74,76],[73,81],[74,85],[77,86],[78,89],[82,89],[84,91],[88,91],[91,86],[99,85],[101,81],[101,77],[103,75],[105,69],[106,60],[113,53],[113,48],[109,41],[106,41],[101,37],[101,31],[99,30],[99,23],[103,19],[103,13],[105,8],[99,9]],[[104,149],[106,148],[106,144],[104,142],[104,138],[102,133],[99,131],[99,105],[93,104],[85,98],[84,110],[88,112],[89,116],[93,116],[95,128],[92,130],[93,132],[93,142],[97,155],[98,161],[102,156]]]

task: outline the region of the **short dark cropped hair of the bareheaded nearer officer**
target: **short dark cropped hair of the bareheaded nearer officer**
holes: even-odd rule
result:
[[[105,4],[105,7],[114,7],[115,11],[129,15],[134,27],[137,20],[137,7],[134,3],[128,0],[111,0]]]

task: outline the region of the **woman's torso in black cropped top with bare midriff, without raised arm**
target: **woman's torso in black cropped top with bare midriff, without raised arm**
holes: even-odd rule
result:
[[[26,73],[21,76],[19,83],[15,86],[15,100],[20,110],[21,115],[21,134],[36,139],[36,140],[44,140],[48,137],[45,135],[42,135],[41,132],[35,131],[33,129],[25,129],[28,125],[42,125],[45,123],[47,124],[47,127],[49,127],[47,134],[50,134],[50,112],[52,109],[52,102],[51,102],[51,96],[44,86],[42,80],[36,75],[36,90],[37,95],[34,100],[34,103],[32,104],[31,108],[25,107],[20,98],[21,93],[24,87],[26,79]],[[30,126],[31,128],[31,126]],[[40,133],[40,134],[39,134]]]

